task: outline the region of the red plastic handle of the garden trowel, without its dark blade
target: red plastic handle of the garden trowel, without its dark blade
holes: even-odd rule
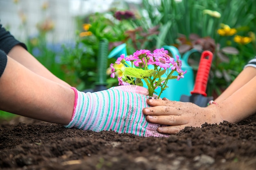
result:
[[[195,94],[207,96],[205,92],[207,88],[209,72],[211,69],[212,57],[213,57],[213,53],[211,53],[211,51],[202,52],[200,62],[199,62],[198,72],[195,77],[195,87],[194,87],[194,90],[191,91],[191,94],[195,93]]]

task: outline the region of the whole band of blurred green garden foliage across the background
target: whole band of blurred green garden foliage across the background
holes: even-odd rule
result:
[[[126,43],[128,55],[139,49],[151,50],[163,45],[176,46],[181,54],[192,48],[210,50],[214,59],[207,93],[212,95],[217,91],[219,95],[256,54],[255,37],[248,44],[234,42],[236,35],[255,36],[255,14],[254,0],[142,0],[132,9],[129,5],[121,10],[112,8],[78,20],[80,28],[84,23],[90,24],[90,28],[77,33],[74,49],[66,49],[62,58],[81,79],[79,88],[82,89],[94,87],[99,41],[103,38],[110,42],[109,51]],[[218,29],[223,24],[236,29],[236,34],[219,35]],[[83,31],[87,31],[87,36],[79,36]],[[195,55],[189,60],[195,73],[199,58]],[[113,60],[108,60],[108,65],[111,62]],[[110,86],[116,83],[107,81]]]

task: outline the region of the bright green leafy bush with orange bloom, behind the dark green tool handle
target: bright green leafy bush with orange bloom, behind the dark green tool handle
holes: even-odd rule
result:
[[[106,13],[95,13],[88,17],[83,30],[77,32],[74,48],[64,46],[62,62],[81,79],[79,90],[93,89],[97,79],[97,57],[99,43],[106,39],[109,42],[124,40],[124,32],[114,24]],[[84,19],[83,19],[84,20]],[[106,63],[107,64],[107,63]]]

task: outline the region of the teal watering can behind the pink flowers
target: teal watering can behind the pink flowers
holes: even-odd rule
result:
[[[188,58],[191,55],[191,53],[198,52],[196,49],[191,49],[190,51],[187,51],[184,53],[184,55],[181,57],[178,49],[175,46],[162,46],[165,50],[168,50],[172,53],[173,57],[175,55],[180,56],[180,60],[182,60],[182,70],[187,71],[184,75],[183,79],[177,80],[177,79],[170,79],[168,80],[166,90],[164,90],[161,94],[161,98],[166,97],[169,100],[175,100],[180,101],[181,95],[190,95],[190,92],[193,90],[194,87],[194,75],[193,75],[193,69],[188,64]],[[108,58],[118,58],[121,54],[125,54],[127,56],[126,51],[126,44],[121,44],[117,46],[115,49],[113,49],[110,54],[108,55]],[[130,62],[127,62],[130,65]],[[175,74],[173,74],[175,75]],[[176,74],[177,75],[177,74]],[[147,88],[146,83],[144,83],[144,87]],[[157,88],[156,93],[159,94],[161,91],[161,88]]]

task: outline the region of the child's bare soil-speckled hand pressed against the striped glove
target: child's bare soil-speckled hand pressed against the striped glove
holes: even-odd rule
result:
[[[153,106],[143,109],[147,121],[167,125],[157,129],[160,133],[175,134],[186,126],[201,127],[205,122],[215,124],[223,121],[215,106],[202,108],[193,103],[170,101],[166,98],[148,99],[147,103]]]

